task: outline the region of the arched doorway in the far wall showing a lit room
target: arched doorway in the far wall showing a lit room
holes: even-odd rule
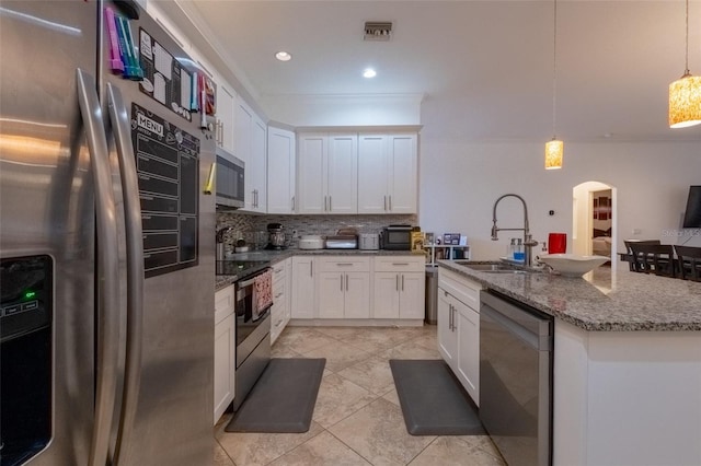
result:
[[[617,260],[617,188],[601,182],[585,182],[572,188],[572,252]]]

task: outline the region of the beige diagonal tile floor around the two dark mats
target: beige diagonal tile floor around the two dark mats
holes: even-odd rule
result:
[[[436,326],[287,327],[274,358],[326,358],[309,432],[229,433],[215,426],[215,465],[505,465],[486,435],[406,432],[390,359],[438,359]]]

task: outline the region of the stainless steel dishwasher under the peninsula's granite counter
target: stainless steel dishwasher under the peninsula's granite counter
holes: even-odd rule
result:
[[[509,466],[549,466],[552,316],[491,290],[480,301],[480,419]]]

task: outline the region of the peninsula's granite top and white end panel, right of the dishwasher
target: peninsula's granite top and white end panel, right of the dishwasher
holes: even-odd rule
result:
[[[701,464],[701,283],[439,265],[555,317],[553,464]]]

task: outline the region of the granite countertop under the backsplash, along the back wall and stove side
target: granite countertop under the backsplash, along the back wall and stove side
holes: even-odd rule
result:
[[[364,251],[364,249],[283,249],[283,251],[268,251],[258,249],[249,253],[233,254],[227,260],[230,261],[266,261],[268,264],[262,265],[258,268],[269,267],[280,260],[285,260],[292,256],[406,256],[411,255],[410,251]],[[246,273],[255,272],[256,269],[246,270]],[[216,275],[215,276],[215,291],[219,291],[227,288],[239,279],[235,275]]]

